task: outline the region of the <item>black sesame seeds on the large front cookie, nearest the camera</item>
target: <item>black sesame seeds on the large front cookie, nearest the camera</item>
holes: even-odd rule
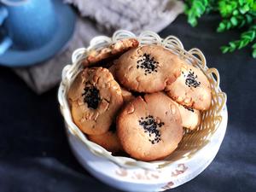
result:
[[[154,119],[154,117],[152,115],[148,115],[145,118],[141,118],[141,120],[138,120],[139,125],[141,125],[144,129],[145,133],[148,133],[149,137],[153,137],[152,135],[154,134],[154,138],[153,139],[148,139],[149,142],[151,142],[152,144],[154,143],[159,143],[161,138],[160,138],[160,131],[159,128],[162,125],[165,125],[164,122],[160,122],[157,123],[156,119]]]

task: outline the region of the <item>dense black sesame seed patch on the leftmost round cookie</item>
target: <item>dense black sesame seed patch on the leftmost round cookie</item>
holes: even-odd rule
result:
[[[88,108],[98,108],[101,98],[99,95],[99,90],[97,90],[95,86],[85,85],[84,93],[82,94],[82,96],[84,96],[84,102],[87,103]]]

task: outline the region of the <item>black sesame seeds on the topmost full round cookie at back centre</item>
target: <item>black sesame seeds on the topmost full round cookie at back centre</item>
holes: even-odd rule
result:
[[[154,61],[154,56],[150,57],[149,54],[143,54],[139,56],[141,59],[137,61],[137,68],[144,70],[144,75],[151,74],[153,72],[157,73],[156,68],[159,62]]]

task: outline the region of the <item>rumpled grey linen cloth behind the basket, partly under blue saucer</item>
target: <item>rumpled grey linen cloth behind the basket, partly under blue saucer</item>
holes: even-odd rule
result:
[[[88,46],[97,35],[111,35],[126,29],[160,32],[183,12],[183,3],[174,0],[64,0],[79,9],[73,38],[54,58],[32,67],[14,71],[38,94],[53,88],[61,81],[62,68],[71,62],[75,49]]]

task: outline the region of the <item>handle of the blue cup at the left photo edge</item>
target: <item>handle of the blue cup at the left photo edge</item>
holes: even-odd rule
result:
[[[3,25],[3,21],[8,17],[8,10],[5,7],[0,7],[0,26]],[[0,55],[2,55],[13,44],[9,37],[4,37],[0,43]]]

